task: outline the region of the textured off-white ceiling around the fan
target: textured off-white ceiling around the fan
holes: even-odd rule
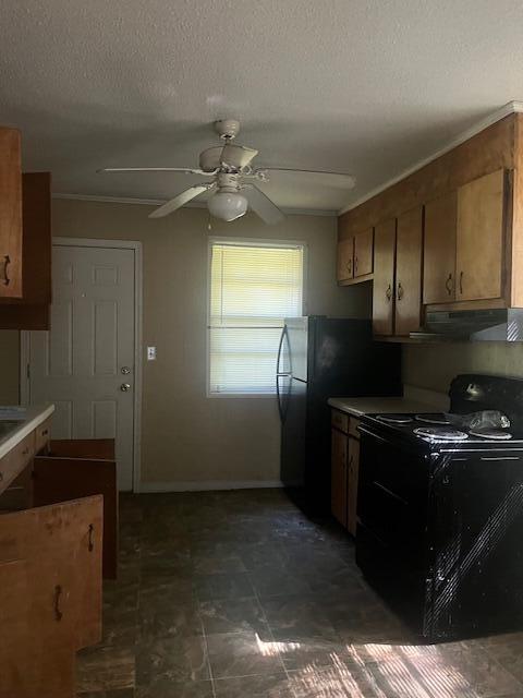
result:
[[[0,122],[56,192],[166,198],[235,117],[284,207],[338,209],[523,96],[520,0],[3,0]],[[196,179],[198,181],[198,179]]]

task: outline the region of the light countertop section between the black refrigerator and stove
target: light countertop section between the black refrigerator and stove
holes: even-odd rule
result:
[[[403,397],[331,397],[330,407],[353,417],[374,413],[440,412],[449,398],[441,393],[405,386]]]

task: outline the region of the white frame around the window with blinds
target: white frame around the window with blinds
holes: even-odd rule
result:
[[[238,398],[257,398],[257,399],[277,399],[276,386],[275,393],[211,393],[210,392],[210,281],[211,281],[211,263],[212,263],[212,245],[229,244],[232,246],[251,246],[251,248],[301,248],[303,254],[303,275],[302,275],[302,315],[307,314],[307,290],[308,290],[308,245],[304,240],[272,240],[271,238],[236,238],[234,236],[209,236],[207,238],[207,313],[205,326],[205,393],[210,399],[238,399]],[[276,378],[276,371],[275,371]]]

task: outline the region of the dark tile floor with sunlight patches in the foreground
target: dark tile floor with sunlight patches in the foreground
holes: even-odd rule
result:
[[[280,491],[124,496],[83,698],[523,698],[523,634],[419,646]]]

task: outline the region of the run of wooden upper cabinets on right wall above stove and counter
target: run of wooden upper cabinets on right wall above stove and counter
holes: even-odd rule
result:
[[[372,228],[376,334],[409,335],[425,309],[523,308],[523,115],[497,121],[339,218],[340,240],[352,238],[355,251],[358,232]]]

